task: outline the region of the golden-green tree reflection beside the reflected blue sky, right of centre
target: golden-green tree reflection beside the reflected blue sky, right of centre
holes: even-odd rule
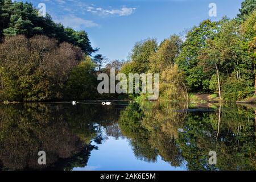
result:
[[[171,112],[171,108],[177,112]],[[184,115],[184,107],[179,105],[174,108],[168,103],[135,103],[121,113],[119,125],[123,135],[130,139],[137,158],[156,162],[160,155],[172,166],[180,166],[183,160],[175,140],[175,126],[183,122],[180,118]]]

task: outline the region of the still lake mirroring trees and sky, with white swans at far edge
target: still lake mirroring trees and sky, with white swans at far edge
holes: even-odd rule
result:
[[[0,105],[0,170],[255,170],[255,110],[168,101]]]

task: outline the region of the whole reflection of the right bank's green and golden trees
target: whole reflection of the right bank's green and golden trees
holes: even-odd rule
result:
[[[196,111],[186,104],[145,102],[122,111],[119,125],[139,159],[155,162],[160,155],[175,167],[186,161],[192,170],[246,170],[256,169],[254,117],[254,110],[236,105]],[[212,150],[216,166],[208,164]]]

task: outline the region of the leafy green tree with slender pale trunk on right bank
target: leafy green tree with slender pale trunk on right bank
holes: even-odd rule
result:
[[[242,50],[241,36],[236,20],[222,19],[220,28],[213,39],[207,40],[207,47],[201,49],[200,64],[207,71],[216,70],[218,94],[221,98],[220,75],[230,76],[234,73],[237,80],[250,80],[252,63],[250,57]]]

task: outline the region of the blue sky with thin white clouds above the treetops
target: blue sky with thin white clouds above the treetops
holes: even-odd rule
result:
[[[53,20],[88,32],[92,46],[109,61],[126,60],[135,42],[180,34],[204,19],[234,18],[243,0],[27,0],[46,4]],[[217,16],[209,17],[209,3]]]

